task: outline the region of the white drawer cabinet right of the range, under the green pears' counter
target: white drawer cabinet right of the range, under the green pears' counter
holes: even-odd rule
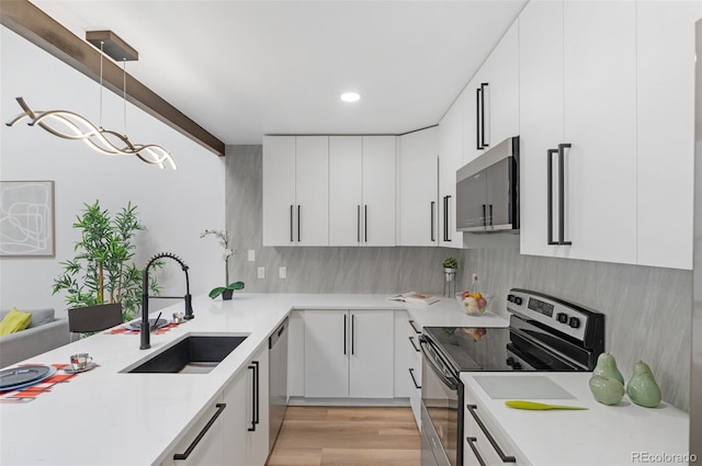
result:
[[[529,465],[512,440],[464,388],[463,465]]]

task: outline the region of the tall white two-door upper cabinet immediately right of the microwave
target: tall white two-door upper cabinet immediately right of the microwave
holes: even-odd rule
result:
[[[635,11],[532,1],[519,18],[522,253],[636,262]]]

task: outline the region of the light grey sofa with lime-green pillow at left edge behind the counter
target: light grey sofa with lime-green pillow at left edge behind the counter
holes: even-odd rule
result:
[[[0,367],[19,363],[20,361],[68,344],[70,341],[68,319],[57,319],[54,309],[20,310],[32,312],[32,321],[30,326],[22,331],[0,337]],[[0,310],[0,320],[2,320],[9,311],[10,309]],[[42,362],[48,364],[55,361]]]

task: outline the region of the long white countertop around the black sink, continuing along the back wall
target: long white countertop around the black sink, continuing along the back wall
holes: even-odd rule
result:
[[[508,326],[492,314],[465,316],[455,299],[422,306],[388,302],[387,296],[236,293],[222,302],[203,295],[193,298],[195,318],[152,333],[149,350],[139,350],[138,334],[102,332],[26,360],[67,363],[71,354],[88,352],[99,367],[31,402],[0,402],[0,464],[159,464],[292,309],[407,309],[418,327]],[[174,304],[162,317],[182,309],[182,303]],[[180,337],[202,332],[248,338],[208,374],[121,372]]]

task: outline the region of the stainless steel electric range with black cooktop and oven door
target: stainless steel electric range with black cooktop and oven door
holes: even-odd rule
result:
[[[461,372],[592,371],[604,351],[604,316],[592,309],[512,288],[507,310],[508,328],[423,328],[422,466],[463,466]]]

